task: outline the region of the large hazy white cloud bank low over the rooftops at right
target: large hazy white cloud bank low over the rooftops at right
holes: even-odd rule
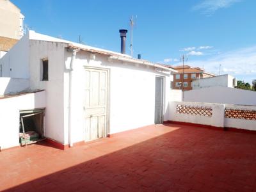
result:
[[[194,67],[204,66],[207,72],[230,74],[237,79],[252,83],[256,79],[256,45],[212,56],[208,60],[190,60]]]

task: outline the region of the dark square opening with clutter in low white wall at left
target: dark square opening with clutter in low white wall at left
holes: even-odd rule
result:
[[[44,140],[45,109],[20,111],[19,142],[21,146]]]

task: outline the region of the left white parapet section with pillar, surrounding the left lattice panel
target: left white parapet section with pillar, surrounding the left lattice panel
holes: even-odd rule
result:
[[[177,113],[177,105],[187,105],[194,107],[212,108],[212,116],[200,116]],[[214,127],[224,127],[224,110],[223,104],[209,104],[202,102],[170,102],[169,103],[169,120],[175,122],[187,122],[192,124],[211,125]]]

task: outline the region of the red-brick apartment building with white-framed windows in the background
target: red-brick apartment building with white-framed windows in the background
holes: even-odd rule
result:
[[[192,90],[192,81],[195,79],[202,79],[206,77],[214,77],[214,74],[205,72],[203,68],[190,67],[189,65],[184,65],[184,77],[183,77],[183,66],[172,67],[177,70],[173,73],[172,88],[175,90]]]

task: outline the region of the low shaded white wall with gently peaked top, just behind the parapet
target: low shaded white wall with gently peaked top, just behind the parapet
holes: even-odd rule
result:
[[[184,101],[256,106],[256,92],[228,87],[211,87],[184,92]]]

